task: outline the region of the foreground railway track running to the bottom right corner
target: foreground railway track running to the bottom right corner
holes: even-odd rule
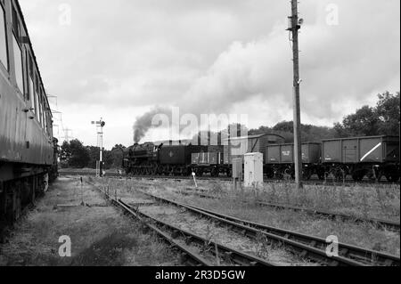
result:
[[[193,207],[176,202],[174,200],[163,199],[147,192],[140,192],[151,199],[168,203],[176,207],[182,207],[186,210],[192,211],[194,214],[201,215],[202,217],[209,218],[214,222],[224,224],[235,231],[240,231],[242,234],[250,238],[256,238],[258,235],[262,234],[264,237],[266,237],[266,239],[272,240],[276,243],[281,243],[287,247],[291,247],[291,250],[297,254],[300,254],[300,256],[310,258],[319,263],[347,266],[399,266],[400,264],[400,259],[398,256],[392,256],[381,252],[372,251],[370,249],[355,247],[342,243],[339,243],[339,256],[328,256],[326,254],[326,248],[328,247],[326,239],[321,239],[294,231],[269,227],[259,223],[252,223],[232,216],[218,214],[217,212],[209,211],[201,207]]]

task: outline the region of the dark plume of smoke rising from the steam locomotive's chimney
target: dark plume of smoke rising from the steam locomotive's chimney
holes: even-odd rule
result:
[[[171,118],[171,110],[165,107],[155,107],[146,112],[143,116],[136,118],[134,125],[134,142],[139,143],[151,129],[153,119],[160,115],[166,115]]]

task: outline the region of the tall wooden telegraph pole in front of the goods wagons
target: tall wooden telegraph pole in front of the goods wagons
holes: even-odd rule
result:
[[[292,33],[292,53],[294,61],[294,85],[293,85],[293,103],[294,103],[294,161],[295,161],[295,183],[297,188],[302,185],[302,144],[300,134],[300,90],[299,85],[299,28],[302,20],[298,17],[298,0],[291,0],[290,27],[288,30]]]

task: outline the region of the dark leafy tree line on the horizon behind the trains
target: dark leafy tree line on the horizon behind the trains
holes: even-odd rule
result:
[[[246,126],[237,126],[237,129]],[[222,137],[229,132],[230,127],[217,134]],[[250,135],[257,134],[280,134],[285,141],[294,141],[292,121],[282,121],[273,127],[260,126],[258,129],[246,129]],[[378,95],[378,102],[375,107],[363,106],[356,110],[356,113],[343,118],[342,122],[334,124],[332,127],[302,125],[302,142],[320,142],[323,139],[346,138],[354,136],[375,136],[375,135],[394,135],[400,134],[400,93],[396,94],[385,92]],[[198,139],[198,135],[193,140]],[[205,135],[201,135],[205,137]],[[206,135],[207,137],[208,135]],[[124,145],[115,145],[111,150],[103,151],[103,161],[106,169],[120,168],[122,166]],[[72,168],[95,168],[96,161],[100,158],[99,148],[85,146],[78,140],[63,142],[61,145],[61,167]]]

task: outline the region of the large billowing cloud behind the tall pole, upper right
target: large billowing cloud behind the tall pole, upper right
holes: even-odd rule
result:
[[[358,11],[360,2],[338,3],[339,26],[317,17],[300,34],[302,106],[309,118],[338,119],[344,114],[341,102],[357,105],[399,77],[399,26],[389,27],[389,19],[397,19],[399,12],[391,11],[390,4],[364,5],[364,14],[372,17],[356,20],[351,11]],[[255,96],[286,98],[290,107],[292,63],[285,28],[276,25],[268,37],[230,45],[185,94],[184,109],[225,111]]]

